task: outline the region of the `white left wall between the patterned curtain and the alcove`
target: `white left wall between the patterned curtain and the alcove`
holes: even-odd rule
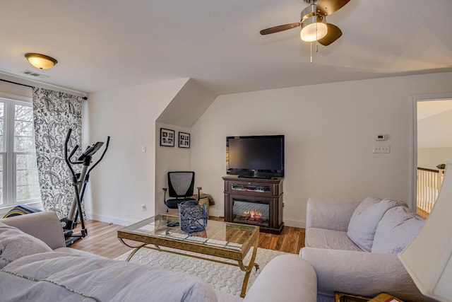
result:
[[[91,173],[85,197],[89,218],[126,225],[154,214],[155,120],[187,80],[88,95],[85,141],[93,144],[111,137],[104,160]]]

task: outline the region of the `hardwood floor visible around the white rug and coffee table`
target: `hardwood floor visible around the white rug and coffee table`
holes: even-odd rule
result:
[[[222,220],[215,217],[210,217],[210,219]],[[117,231],[124,226],[94,220],[85,221],[85,226],[88,229],[88,236],[77,240],[76,243],[71,245],[71,248],[109,258],[118,257],[131,250],[120,243],[117,238]],[[285,226],[280,235],[261,232],[258,246],[259,248],[298,254],[299,249],[304,246],[304,228]]]

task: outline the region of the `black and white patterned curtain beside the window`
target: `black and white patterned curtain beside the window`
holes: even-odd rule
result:
[[[42,204],[45,210],[55,211],[61,219],[69,214],[75,196],[72,176],[64,161],[64,141],[68,130],[72,129],[68,152],[76,145],[78,151],[82,151],[82,98],[35,87],[33,117]],[[76,173],[81,170],[73,168]]]

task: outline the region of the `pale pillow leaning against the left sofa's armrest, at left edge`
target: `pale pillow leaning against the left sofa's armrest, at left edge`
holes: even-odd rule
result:
[[[38,252],[52,252],[52,249],[42,240],[0,222],[0,269],[20,257]]]

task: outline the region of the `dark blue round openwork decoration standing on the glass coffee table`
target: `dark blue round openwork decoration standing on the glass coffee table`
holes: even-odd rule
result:
[[[186,233],[201,232],[207,226],[207,207],[196,200],[181,202],[179,205],[179,225]]]

